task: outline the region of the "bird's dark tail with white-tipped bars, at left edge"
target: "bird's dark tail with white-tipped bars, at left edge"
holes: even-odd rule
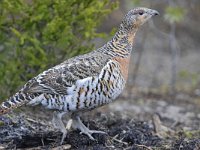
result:
[[[8,98],[5,102],[2,102],[0,104],[0,115],[24,105],[27,102],[27,97],[29,97],[27,94],[18,92],[12,97]]]

